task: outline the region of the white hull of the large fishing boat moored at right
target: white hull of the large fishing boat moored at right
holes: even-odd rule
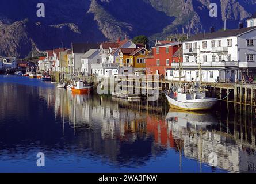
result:
[[[165,94],[171,108],[188,111],[209,110],[217,103],[216,98],[194,99],[189,102],[179,102]]]

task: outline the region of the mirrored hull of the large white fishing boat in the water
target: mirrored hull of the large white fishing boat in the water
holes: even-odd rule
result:
[[[211,113],[194,113],[170,109],[166,121],[174,127],[206,128],[208,125],[217,124],[216,117]]]

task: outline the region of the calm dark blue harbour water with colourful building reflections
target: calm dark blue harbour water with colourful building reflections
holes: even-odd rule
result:
[[[177,112],[5,75],[0,94],[1,172],[256,171],[250,109]]]

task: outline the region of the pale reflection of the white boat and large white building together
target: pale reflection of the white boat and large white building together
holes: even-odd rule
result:
[[[211,114],[169,112],[166,121],[174,139],[182,139],[184,156],[211,164],[211,155],[216,154],[213,164],[216,167],[232,172],[256,171],[255,150],[236,143],[232,135],[220,133],[219,124]]]

